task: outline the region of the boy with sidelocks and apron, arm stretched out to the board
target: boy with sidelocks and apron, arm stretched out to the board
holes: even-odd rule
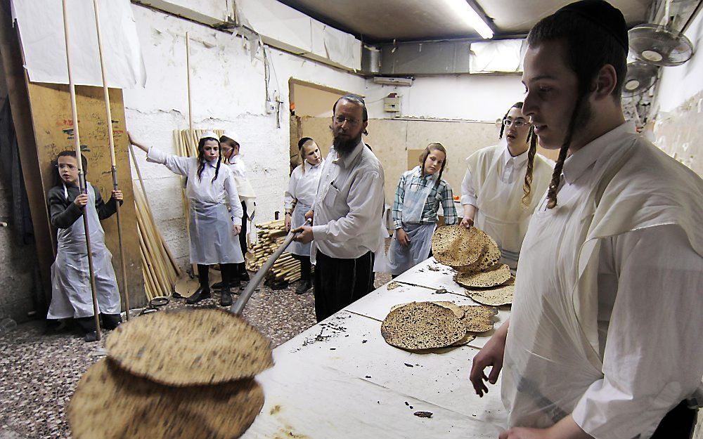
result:
[[[244,212],[232,171],[222,163],[217,134],[205,131],[200,136],[198,157],[172,155],[136,142],[129,133],[128,136],[132,145],[147,153],[148,162],[163,164],[172,172],[188,178],[186,197],[190,204],[191,263],[198,266],[200,288],[186,299],[186,303],[209,298],[209,266],[217,263],[222,273],[220,305],[231,305],[230,287],[238,287],[237,264],[244,262],[242,249],[233,236],[242,230]]]

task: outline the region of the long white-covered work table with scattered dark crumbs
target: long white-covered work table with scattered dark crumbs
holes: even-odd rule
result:
[[[396,277],[398,287],[385,284],[274,349],[275,365],[257,376],[264,407],[243,438],[497,438],[506,419],[500,383],[479,398],[469,381],[492,331],[433,353],[394,348],[381,336],[398,303],[477,305],[453,273],[430,258]],[[496,328],[509,315],[499,308]]]

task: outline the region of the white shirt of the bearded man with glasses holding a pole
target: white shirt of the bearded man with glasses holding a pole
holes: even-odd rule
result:
[[[340,259],[376,251],[384,204],[383,167],[376,156],[363,140],[345,156],[331,148],[321,173],[313,204],[311,256],[316,249]]]

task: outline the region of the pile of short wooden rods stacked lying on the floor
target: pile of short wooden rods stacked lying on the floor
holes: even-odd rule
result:
[[[247,254],[247,270],[251,271],[258,271],[288,235],[283,220],[257,224],[257,230],[259,242],[254,244]],[[300,262],[294,259],[288,251],[280,255],[269,274],[266,275],[266,280],[273,282],[290,283],[299,279]]]

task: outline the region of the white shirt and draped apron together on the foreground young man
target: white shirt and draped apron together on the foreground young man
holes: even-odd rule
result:
[[[624,124],[532,216],[505,346],[510,426],[649,438],[703,374],[703,181]]]

